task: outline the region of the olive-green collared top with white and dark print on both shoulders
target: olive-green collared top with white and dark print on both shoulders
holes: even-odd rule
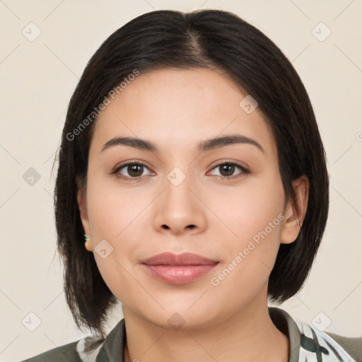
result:
[[[324,332],[295,321],[285,310],[269,307],[274,325],[289,338],[288,362],[362,362],[362,337],[350,338]],[[23,362],[124,362],[126,329],[124,319],[109,332],[93,354],[83,348],[90,337],[64,344]]]

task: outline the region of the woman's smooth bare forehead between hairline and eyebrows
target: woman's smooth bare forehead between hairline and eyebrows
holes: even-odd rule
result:
[[[93,147],[115,136],[150,139],[162,151],[242,134],[268,153],[276,147],[262,112],[240,106],[247,94],[221,71],[158,69],[136,76],[98,116]],[[248,99],[248,98],[246,98]]]

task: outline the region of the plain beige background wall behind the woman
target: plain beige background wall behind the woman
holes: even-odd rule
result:
[[[293,62],[325,143],[331,206],[305,288],[281,308],[308,323],[330,320],[329,331],[362,335],[361,0],[0,0],[0,361],[19,361],[88,334],[76,329],[54,257],[54,154],[91,55],[127,21],[165,8],[233,11]],[[37,28],[40,36],[28,40]],[[33,185],[23,179],[34,172],[29,168],[40,175]],[[118,308],[110,328],[121,317]],[[24,318],[33,325],[23,325]],[[41,323],[30,332],[37,318]]]

